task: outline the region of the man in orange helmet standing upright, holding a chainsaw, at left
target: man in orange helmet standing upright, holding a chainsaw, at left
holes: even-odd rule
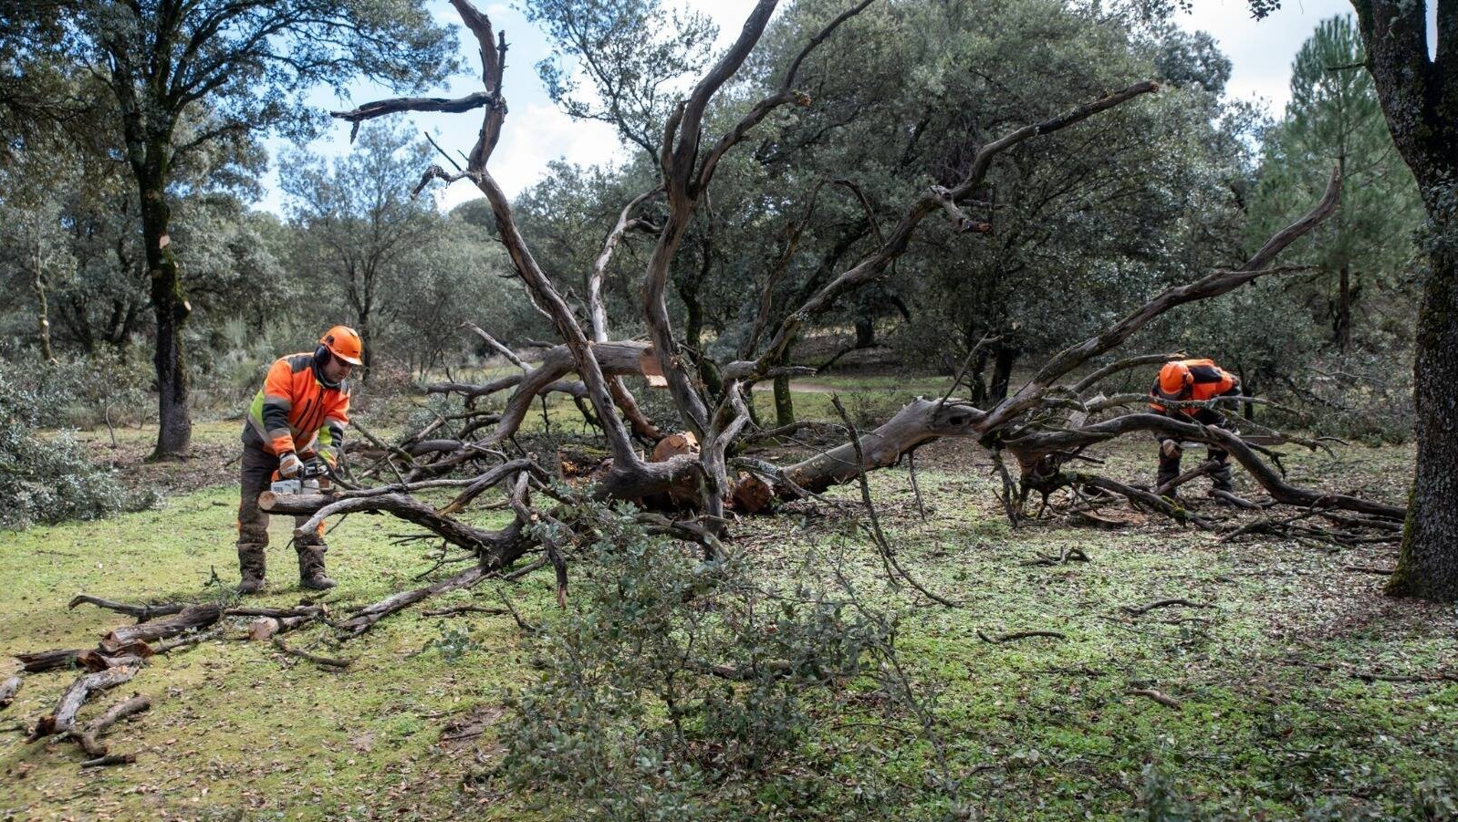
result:
[[[289,354],[274,361],[264,386],[254,396],[243,423],[242,498],[238,503],[239,593],[264,589],[268,547],[268,514],[258,509],[258,496],[274,472],[283,478],[303,474],[305,462],[322,459],[331,468],[344,446],[350,421],[350,386],[346,377],[364,353],[359,332],[335,325],[324,332],[313,351]],[[296,517],[296,528],[308,517]],[[295,539],[299,552],[299,584],[334,587],[324,574],[322,526],[316,533]]]

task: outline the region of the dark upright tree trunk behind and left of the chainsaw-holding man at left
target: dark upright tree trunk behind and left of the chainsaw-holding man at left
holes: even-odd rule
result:
[[[165,146],[152,147],[153,157],[162,156]],[[182,325],[192,306],[182,293],[182,277],[168,238],[171,219],[165,200],[166,171],[160,162],[150,163],[141,179],[141,239],[147,251],[147,274],[152,278],[152,312],[157,324],[157,345],[152,364],[157,375],[157,447],[155,461],[181,459],[192,443],[192,417],[188,410],[188,375],[182,359]]]

